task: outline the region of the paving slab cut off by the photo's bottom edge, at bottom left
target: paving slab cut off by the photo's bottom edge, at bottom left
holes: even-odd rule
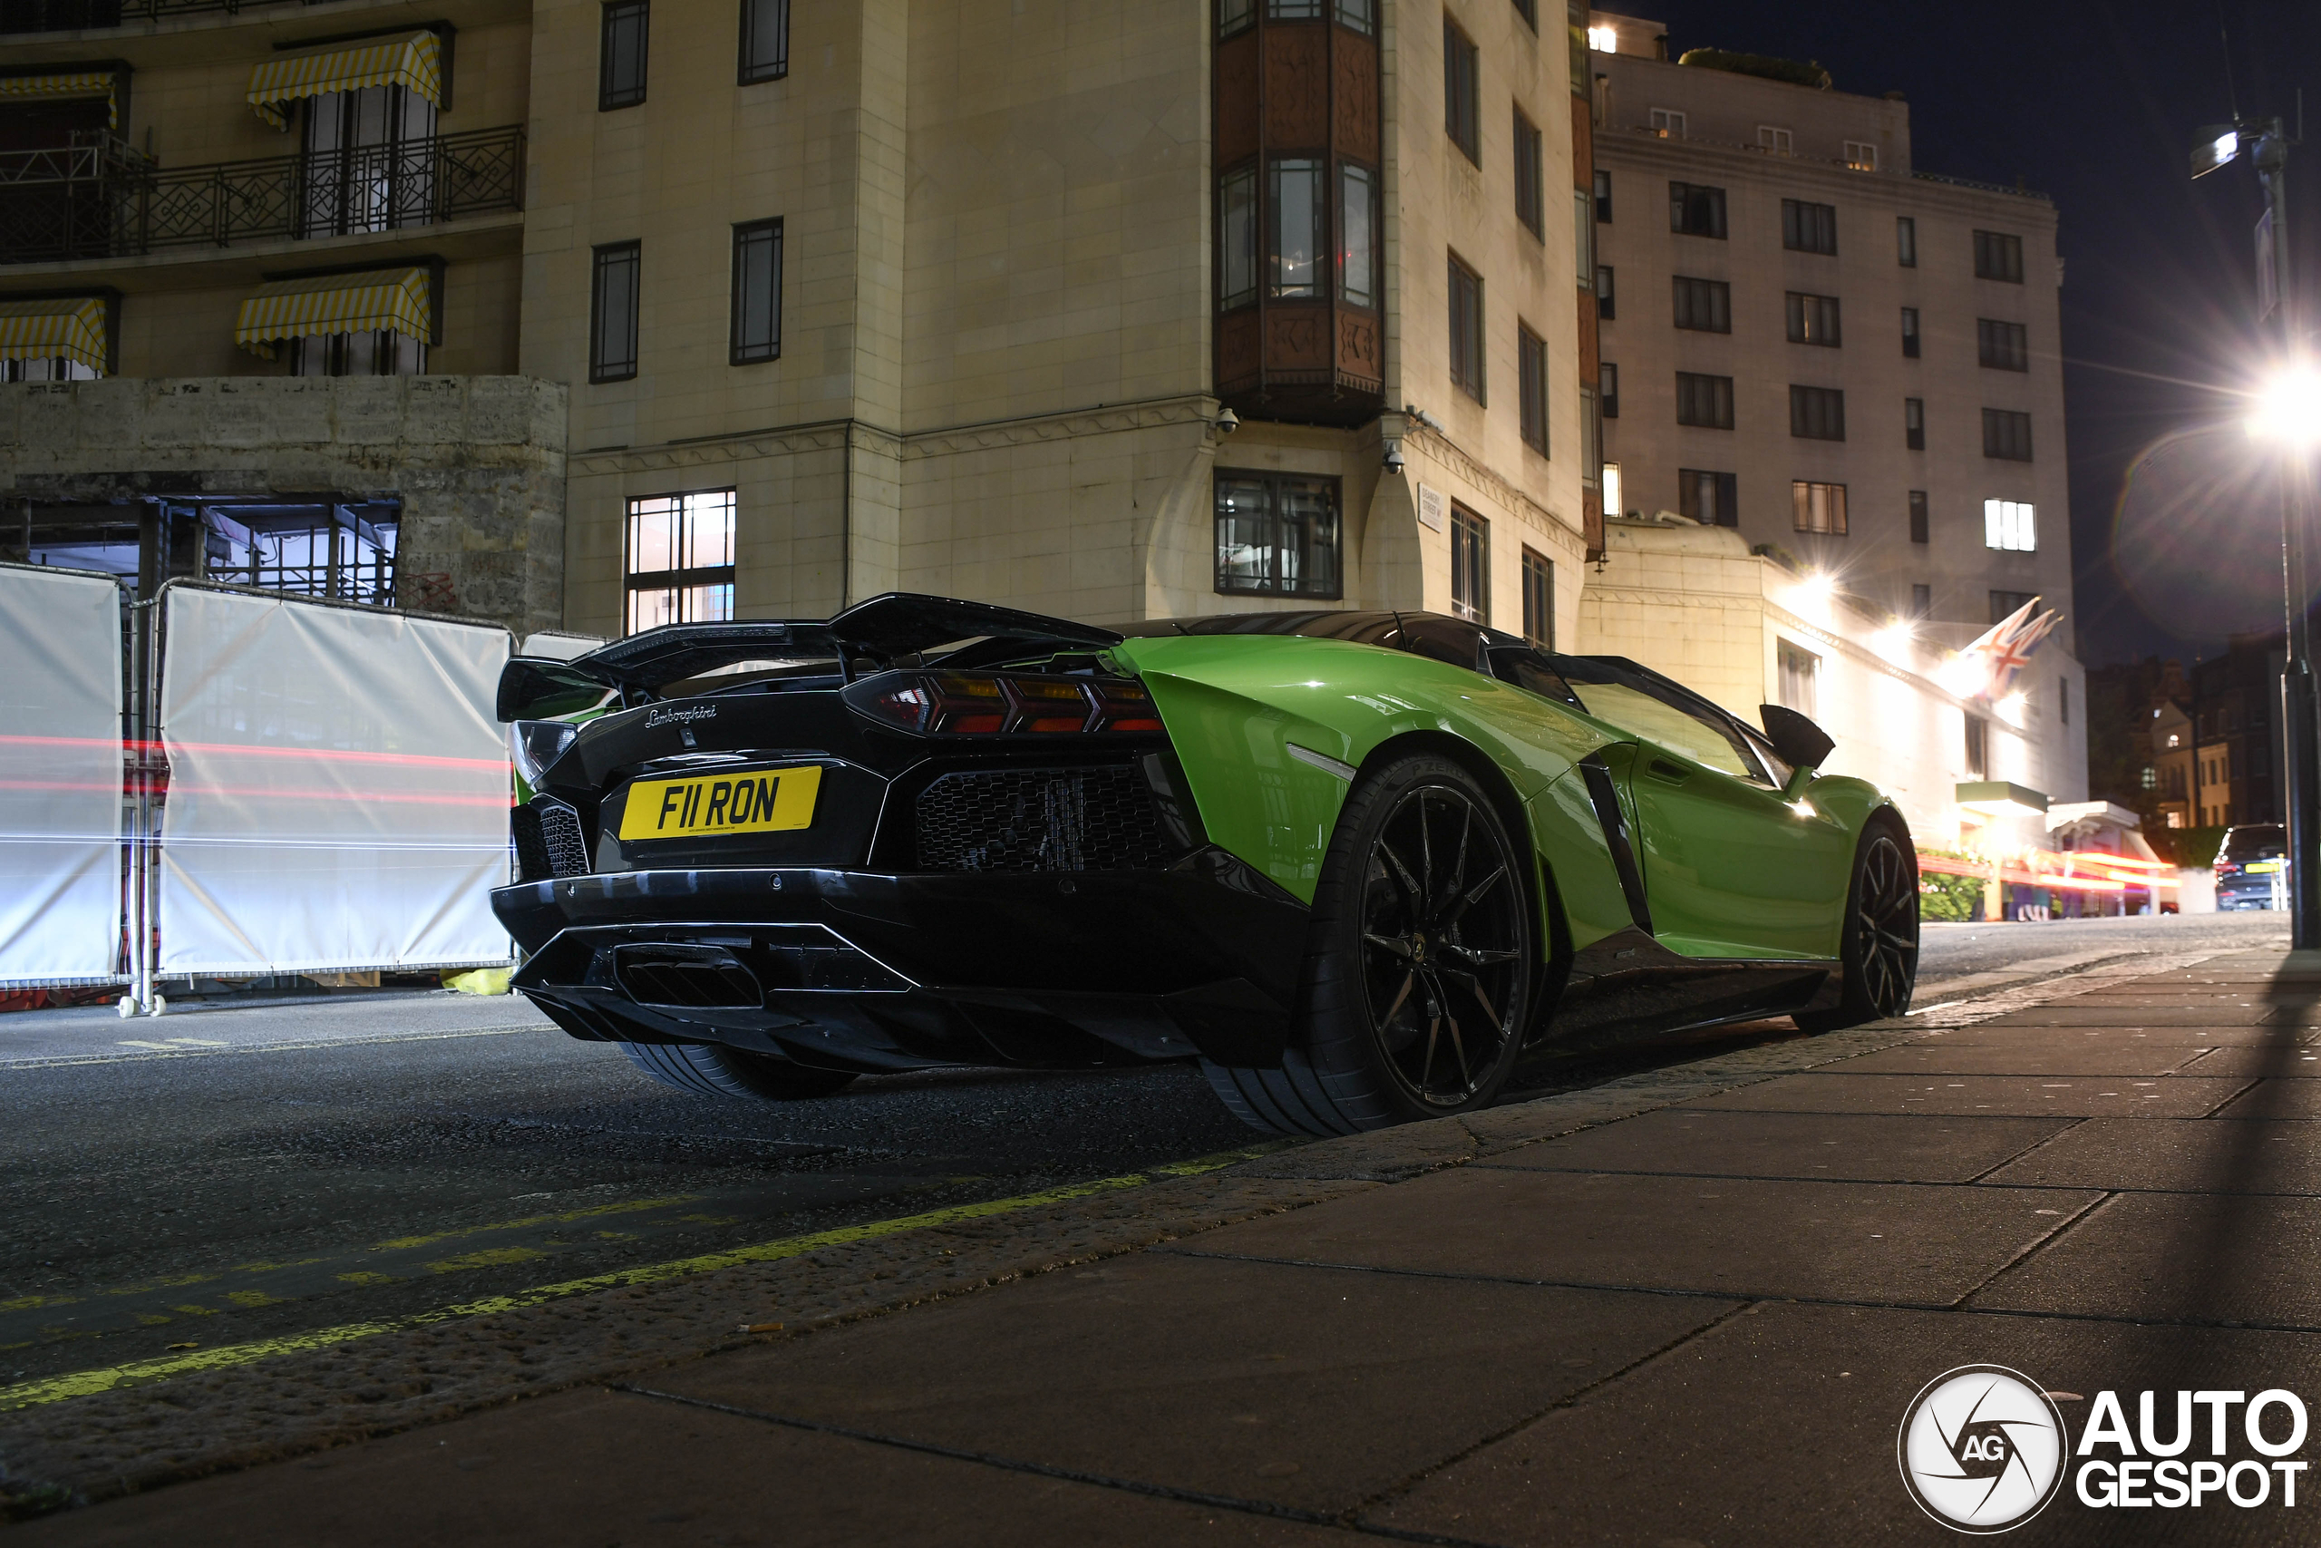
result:
[[[1037,1532],[1031,1532],[1037,1522]],[[562,1393],[16,1527],[91,1548],[1342,1546],[1344,1532],[657,1402]]]

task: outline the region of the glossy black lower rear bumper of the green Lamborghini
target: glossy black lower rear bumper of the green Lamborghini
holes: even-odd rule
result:
[[[578,1037],[836,1070],[1277,1065],[1307,931],[1219,849],[1135,873],[634,870],[492,907],[527,952],[515,989]]]

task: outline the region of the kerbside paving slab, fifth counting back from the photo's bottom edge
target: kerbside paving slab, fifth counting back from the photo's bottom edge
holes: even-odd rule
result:
[[[2096,1119],[2149,1114],[2198,1119],[2240,1095],[2247,1079],[2096,1077],[2045,1079],[2038,1075],[1792,1075],[1785,1082],[1745,1086],[1699,1098],[1694,1107],[1722,1112],[1910,1112],[1952,1116],[2056,1116]]]

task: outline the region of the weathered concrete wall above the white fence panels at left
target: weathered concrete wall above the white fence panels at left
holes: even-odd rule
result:
[[[564,413],[525,376],[0,385],[0,490],[402,499],[397,571],[525,634],[562,617]]]

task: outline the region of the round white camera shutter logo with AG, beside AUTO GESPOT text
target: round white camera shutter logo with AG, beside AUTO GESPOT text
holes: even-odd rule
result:
[[[2008,1532],[2063,1488],[2070,1437],[2036,1381],[2003,1365],[1961,1365],[1929,1381],[1901,1416],[1901,1481],[1926,1516],[1959,1532]]]

